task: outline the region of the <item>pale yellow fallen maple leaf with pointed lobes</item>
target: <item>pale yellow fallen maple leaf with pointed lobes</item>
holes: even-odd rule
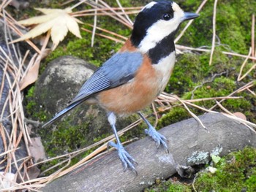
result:
[[[37,9],[38,11],[44,13],[45,15],[18,21],[18,23],[23,26],[31,26],[35,24],[38,25],[32,28],[31,31],[29,31],[28,33],[23,34],[22,37],[15,39],[13,42],[19,42],[26,39],[34,38],[39,36],[40,34],[44,34],[49,30],[50,37],[53,41],[53,49],[55,49],[57,45],[59,45],[59,42],[61,42],[64,39],[68,31],[70,31],[76,37],[81,38],[78,23],[82,22],[69,15],[70,13],[72,13],[72,10],[70,8],[34,9]]]

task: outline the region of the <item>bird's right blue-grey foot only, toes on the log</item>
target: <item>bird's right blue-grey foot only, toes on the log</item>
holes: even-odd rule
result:
[[[145,129],[145,133],[150,136],[152,139],[154,139],[155,142],[157,142],[157,148],[162,145],[166,152],[169,153],[168,147],[167,147],[167,139],[162,134],[159,134],[157,130],[153,126],[148,126],[147,129]]]

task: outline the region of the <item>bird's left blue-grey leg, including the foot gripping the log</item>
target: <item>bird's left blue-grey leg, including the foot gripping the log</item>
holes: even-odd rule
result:
[[[127,167],[131,168],[132,171],[137,174],[134,163],[137,164],[134,158],[132,158],[129,153],[127,153],[126,150],[124,150],[123,145],[121,145],[120,139],[118,137],[117,131],[116,131],[116,115],[113,112],[108,112],[108,122],[110,123],[110,126],[112,127],[113,133],[116,137],[116,143],[114,142],[108,142],[108,147],[115,147],[116,150],[118,150],[118,156],[121,159],[121,162],[124,166],[124,171],[127,169]]]

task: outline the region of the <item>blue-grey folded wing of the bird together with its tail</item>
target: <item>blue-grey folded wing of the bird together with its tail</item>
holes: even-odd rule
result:
[[[95,93],[115,88],[132,80],[142,62],[143,55],[139,52],[116,53],[91,75],[67,108],[59,112],[52,120],[45,123],[44,126],[49,126]]]

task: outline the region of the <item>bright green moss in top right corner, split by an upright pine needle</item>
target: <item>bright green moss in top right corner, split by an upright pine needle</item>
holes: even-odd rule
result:
[[[181,1],[181,7],[191,11],[192,7],[198,7],[198,3],[197,1]],[[213,7],[214,1],[207,1],[203,11],[200,12],[200,17],[194,20],[184,37],[178,42],[179,44],[211,47]],[[221,50],[233,50],[246,54],[251,41],[250,31],[255,7],[254,0],[218,2],[216,34],[219,37],[217,46],[220,46]]]

